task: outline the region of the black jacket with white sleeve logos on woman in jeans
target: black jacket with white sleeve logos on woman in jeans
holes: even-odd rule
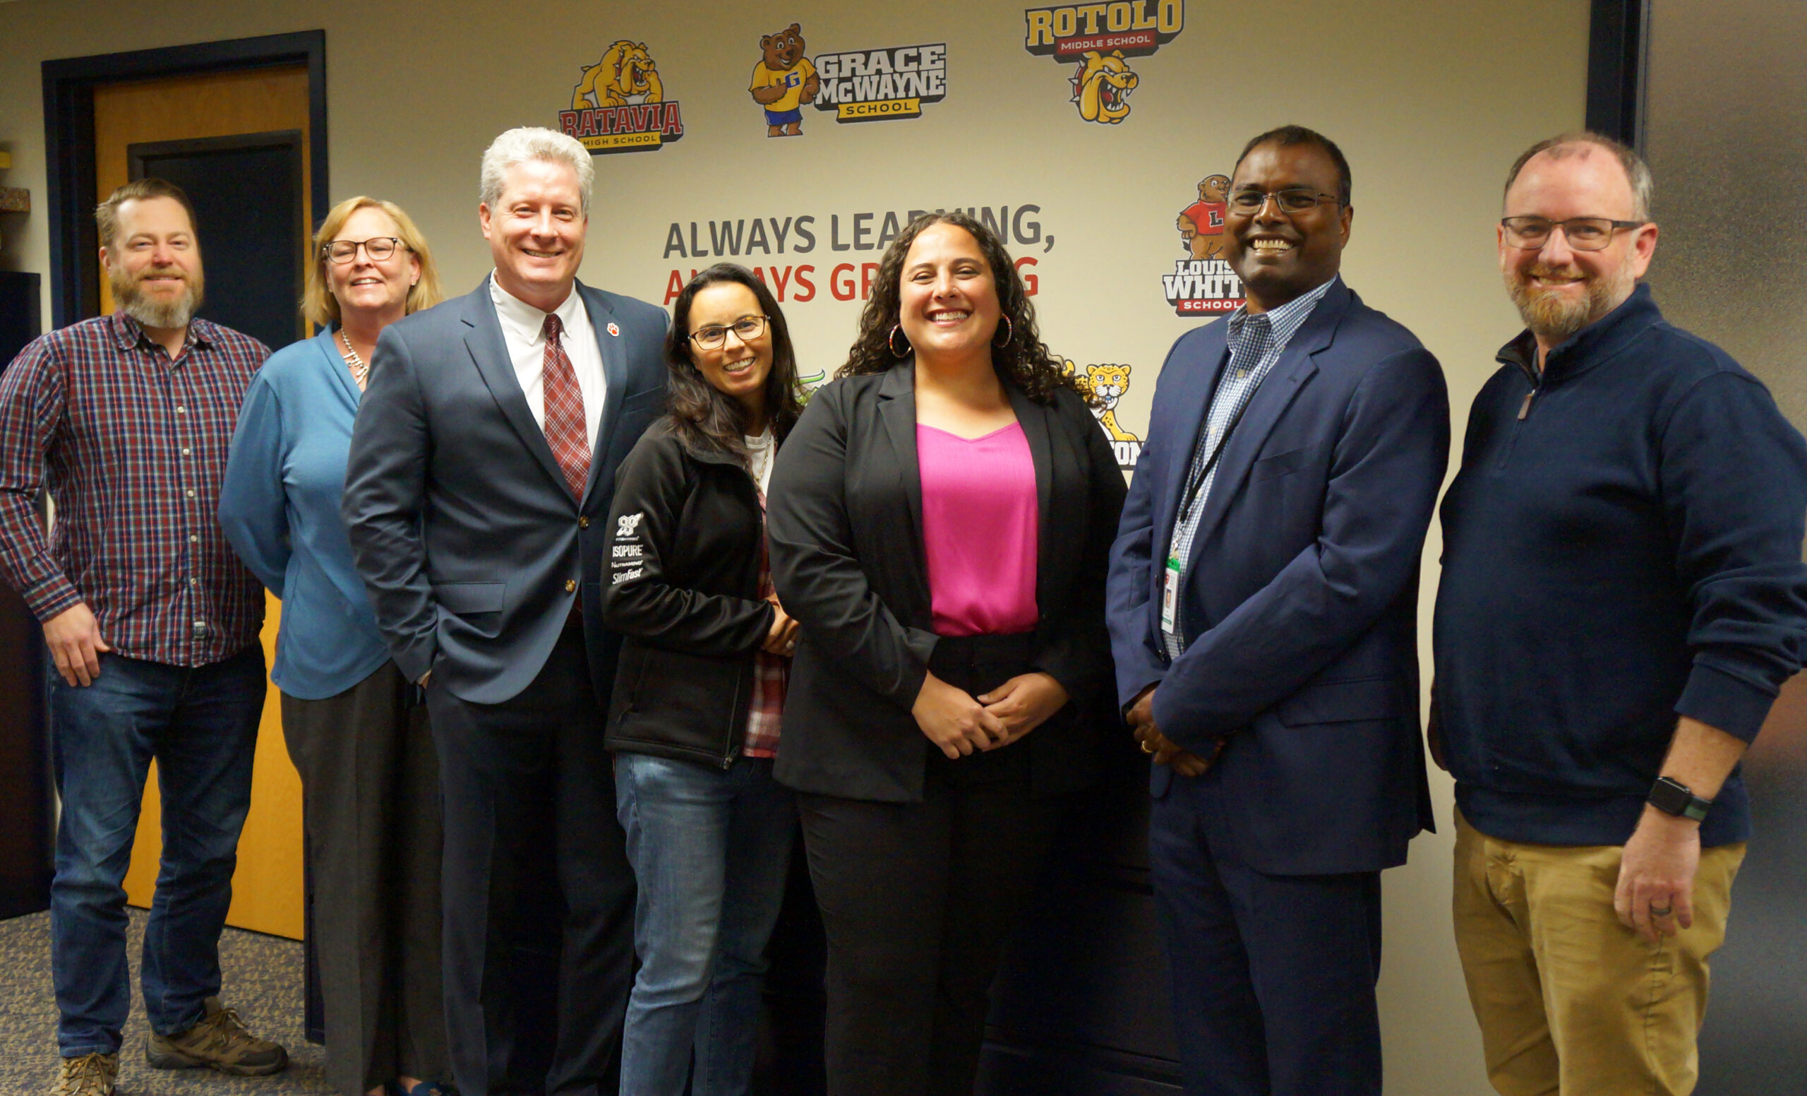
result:
[[[759,487],[737,456],[690,449],[663,418],[622,461],[605,528],[602,620],[625,637],[607,747],[726,769],[772,633]]]

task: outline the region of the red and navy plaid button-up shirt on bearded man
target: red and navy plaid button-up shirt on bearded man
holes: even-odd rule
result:
[[[170,358],[125,313],[52,331],[0,376],[0,577],[40,620],[87,602],[116,655],[206,666],[257,642],[264,588],[217,519],[269,347],[193,320]],[[56,503],[49,535],[38,496]]]

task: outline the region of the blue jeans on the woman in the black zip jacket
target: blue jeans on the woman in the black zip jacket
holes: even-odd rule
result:
[[[640,973],[627,998],[622,1092],[746,1092],[766,939],[784,902],[797,808],[770,758],[726,770],[614,756],[614,798],[640,899]]]

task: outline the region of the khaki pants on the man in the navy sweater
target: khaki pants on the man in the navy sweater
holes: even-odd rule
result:
[[[1456,812],[1456,951],[1502,1096],[1688,1096],[1700,1078],[1708,957],[1744,845],[1700,852],[1693,928],[1661,944],[1612,910],[1621,852],[1498,841]]]

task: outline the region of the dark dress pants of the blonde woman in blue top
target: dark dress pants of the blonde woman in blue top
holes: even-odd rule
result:
[[[394,662],[338,696],[282,696],[302,774],[309,944],[327,1083],[452,1080],[439,991],[439,767],[426,709]]]

